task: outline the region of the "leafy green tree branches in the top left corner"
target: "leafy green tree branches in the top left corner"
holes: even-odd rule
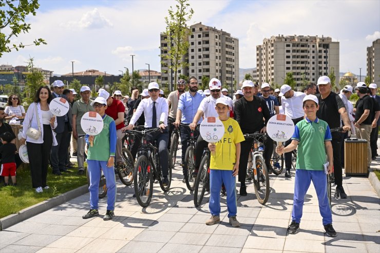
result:
[[[21,33],[28,33],[31,29],[31,24],[26,23],[25,19],[29,14],[35,16],[36,10],[40,8],[38,2],[38,0],[0,1],[0,57],[12,49],[18,51],[25,46],[47,44],[42,38],[37,38],[28,45],[24,45],[22,42],[18,45],[11,45],[12,37],[17,37]]]

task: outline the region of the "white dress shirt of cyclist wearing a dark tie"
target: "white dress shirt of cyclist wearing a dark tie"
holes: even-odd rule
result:
[[[169,106],[167,104],[166,99],[164,98],[158,98],[156,101],[156,122],[157,127],[160,125],[159,122],[164,122],[164,125],[167,126],[167,115]],[[149,99],[143,99],[141,100],[139,106],[136,109],[136,112],[133,114],[132,118],[130,119],[129,124],[135,125],[136,121],[140,118],[141,114],[144,112],[145,116],[145,125],[144,127],[151,127],[152,118],[153,118],[153,100],[151,98]]]

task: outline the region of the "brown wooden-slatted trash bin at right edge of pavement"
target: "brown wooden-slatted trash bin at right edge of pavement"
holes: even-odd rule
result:
[[[367,145],[365,139],[345,140],[346,175],[367,176]]]

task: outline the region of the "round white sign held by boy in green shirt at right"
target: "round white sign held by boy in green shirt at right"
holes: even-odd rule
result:
[[[293,136],[294,123],[289,116],[276,114],[269,119],[267,132],[273,141],[286,142]]]

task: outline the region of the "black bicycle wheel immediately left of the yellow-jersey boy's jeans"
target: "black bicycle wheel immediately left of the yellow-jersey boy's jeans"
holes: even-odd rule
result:
[[[200,206],[203,200],[204,192],[207,185],[210,184],[210,174],[208,174],[208,168],[210,167],[210,157],[204,155],[201,164],[199,166],[198,176],[195,180],[194,186],[194,205]]]

